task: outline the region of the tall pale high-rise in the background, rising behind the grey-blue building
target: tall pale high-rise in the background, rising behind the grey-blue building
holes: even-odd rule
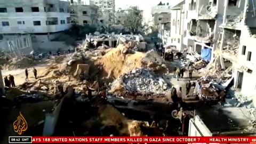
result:
[[[109,24],[115,23],[115,0],[94,0],[95,5],[100,7],[101,11],[108,13]]]

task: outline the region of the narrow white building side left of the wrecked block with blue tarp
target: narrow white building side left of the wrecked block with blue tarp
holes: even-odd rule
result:
[[[181,51],[183,48],[183,23],[184,23],[184,9],[185,1],[180,1],[171,9],[171,44],[177,50]]]

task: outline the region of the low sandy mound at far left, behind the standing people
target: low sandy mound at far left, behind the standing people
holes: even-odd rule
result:
[[[37,61],[27,57],[13,58],[3,66],[3,69],[6,69],[6,70],[19,69],[19,68],[23,69],[23,68],[33,67],[37,64],[38,64]]]

